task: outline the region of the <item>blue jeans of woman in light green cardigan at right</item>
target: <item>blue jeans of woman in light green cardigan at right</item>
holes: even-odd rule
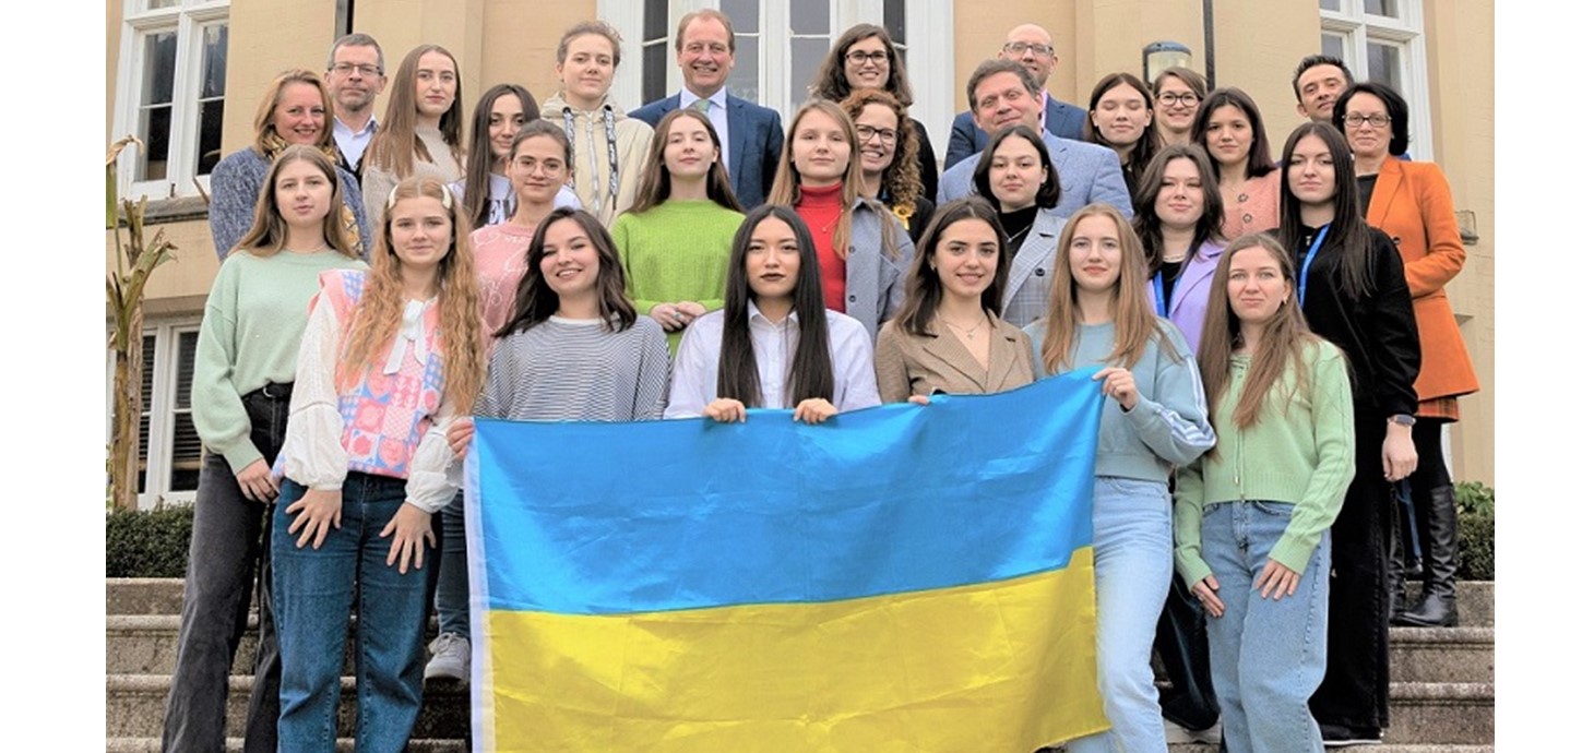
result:
[[[1224,607],[1207,619],[1207,640],[1231,753],[1323,750],[1307,700],[1328,665],[1328,532],[1294,595],[1262,599],[1251,587],[1293,511],[1282,501],[1227,501],[1202,516],[1200,554]]]

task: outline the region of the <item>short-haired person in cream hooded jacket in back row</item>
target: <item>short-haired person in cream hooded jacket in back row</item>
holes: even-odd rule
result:
[[[553,65],[559,92],[542,102],[542,116],[564,126],[575,146],[575,194],[604,226],[631,209],[647,162],[654,129],[620,108],[611,96],[620,67],[620,33],[603,21],[582,21],[564,30]]]

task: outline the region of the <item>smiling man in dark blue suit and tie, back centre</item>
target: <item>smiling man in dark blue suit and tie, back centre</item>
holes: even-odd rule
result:
[[[706,113],[719,135],[720,159],[736,189],[736,201],[743,209],[764,204],[775,183],[784,132],[779,113],[733,97],[725,89],[730,68],[736,65],[736,33],[730,18],[716,10],[682,16],[676,27],[676,65],[681,65],[685,83],[681,94],[642,105],[631,118],[657,127],[671,110],[695,107]]]

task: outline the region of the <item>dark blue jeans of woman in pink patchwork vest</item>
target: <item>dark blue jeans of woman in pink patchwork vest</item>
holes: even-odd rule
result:
[[[392,536],[378,533],[403,505],[405,481],[349,471],[343,482],[343,527],[332,529],[320,549],[301,549],[295,546],[298,536],[289,533],[293,519],[287,508],[301,497],[301,484],[282,481],[271,535],[271,595],[282,651],[277,743],[295,753],[335,748],[338,680],[357,583],[354,750],[400,753],[421,713],[427,578],[424,568],[398,575],[397,562],[389,567]],[[424,567],[434,567],[430,557]]]

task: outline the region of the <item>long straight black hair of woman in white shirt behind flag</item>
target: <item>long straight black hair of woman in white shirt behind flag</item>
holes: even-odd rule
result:
[[[730,242],[730,269],[725,272],[725,331],[719,341],[719,385],[716,395],[740,400],[748,408],[764,404],[759,385],[759,361],[752,352],[752,330],[748,306],[752,287],[748,283],[748,247],[752,231],[764,220],[776,218],[797,236],[797,290],[792,310],[797,312],[797,353],[786,376],[787,408],[808,398],[832,400],[835,368],[830,365],[830,326],[826,322],[824,288],[819,282],[819,253],[813,247],[808,226],[789,207],[765,204],[748,213]]]

